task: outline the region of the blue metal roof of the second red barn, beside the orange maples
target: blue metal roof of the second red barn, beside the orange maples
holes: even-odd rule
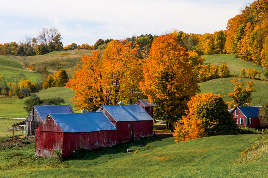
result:
[[[117,122],[153,120],[153,118],[137,104],[102,105]]]

